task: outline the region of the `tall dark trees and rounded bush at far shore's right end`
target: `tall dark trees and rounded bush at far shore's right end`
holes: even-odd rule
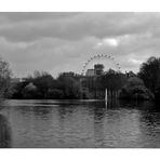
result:
[[[129,78],[119,98],[160,101],[160,58],[149,57],[141,65],[136,77]]]

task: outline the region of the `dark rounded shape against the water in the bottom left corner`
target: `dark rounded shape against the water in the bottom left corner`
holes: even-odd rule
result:
[[[11,147],[11,128],[6,118],[0,115],[0,148]]]

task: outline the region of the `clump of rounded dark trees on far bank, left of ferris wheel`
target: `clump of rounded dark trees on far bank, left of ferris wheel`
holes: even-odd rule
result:
[[[12,98],[26,99],[78,99],[80,98],[80,83],[75,77],[61,74],[54,79],[48,72],[35,71],[25,81],[13,88]]]

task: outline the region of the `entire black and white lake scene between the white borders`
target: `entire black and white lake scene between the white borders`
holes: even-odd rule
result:
[[[160,148],[160,12],[0,12],[1,148]]]

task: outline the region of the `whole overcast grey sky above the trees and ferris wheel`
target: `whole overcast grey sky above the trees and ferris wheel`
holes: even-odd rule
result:
[[[15,77],[80,74],[96,53],[137,71],[160,55],[160,13],[0,13],[0,55]]]

